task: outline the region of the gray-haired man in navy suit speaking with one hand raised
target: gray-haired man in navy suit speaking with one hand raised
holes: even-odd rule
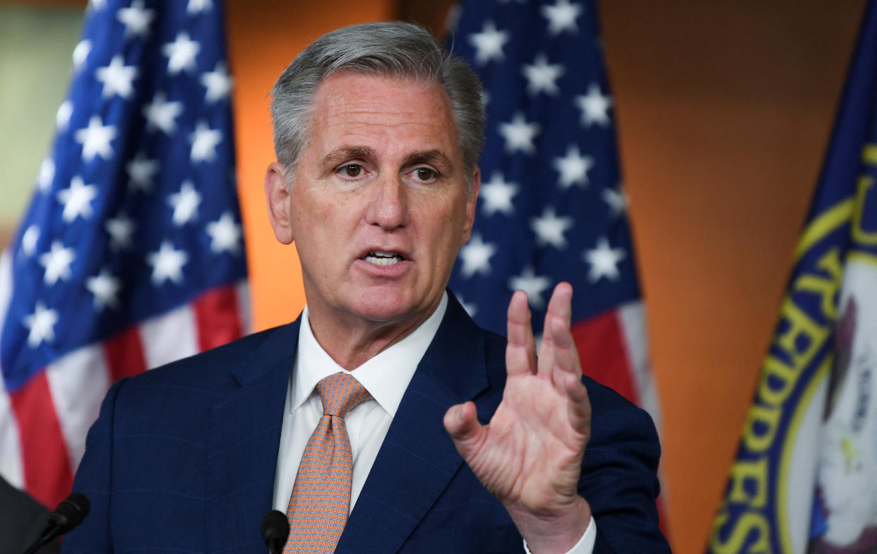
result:
[[[582,380],[572,288],[538,359],[524,293],[506,344],[446,291],[481,184],[480,93],[414,25],[347,27],[287,67],[265,191],[308,305],[111,389],[66,552],[260,551],[272,505],[292,552],[669,551],[652,422]]]

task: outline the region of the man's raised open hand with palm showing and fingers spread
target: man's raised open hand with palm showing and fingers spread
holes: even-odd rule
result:
[[[512,295],[503,401],[488,425],[478,422],[471,401],[445,415],[460,456],[536,554],[566,552],[591,518],[577,490],[591,407],[569,329],[572,297],[568,283],[554,288],[537,358],[527,296]]]

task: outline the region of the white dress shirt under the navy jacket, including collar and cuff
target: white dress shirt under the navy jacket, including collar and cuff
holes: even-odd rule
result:
[[[439,330],[446,308],[447,293],[442,295],[439,307],[432,315],[408,337],[367,360],[353,372],[348,372],[317,343],[317,338],[310,329],[308,307],[304,307],[298,330],[298,347],[287,389],[286,409],[283,412],[275,474],[275,509],[286,513],[304,448],[323,416],[323,401],[317,392],[317,383],[334,373],[351,373],[372,396],[350,410],[344,418],[353,452],[353,481],[350,491],[350,509],[353,510],[368,472],[374,465],[374,458],[387,436],[390,423],[393,423],[405,389]],[[567,554],[590,554],[594,550],[595,534],[592,518],[581,541]],[[580,547],[583,548],[580,550]]]

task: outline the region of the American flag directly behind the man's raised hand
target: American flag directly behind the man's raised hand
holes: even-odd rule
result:
[[[488,112],[478,213],[451,288],[503,335],[523,289],[540,335],[553,285],[570,282],[585,373],[660,430],[595,2],[470,0],[451,17],[449,46],[481,77]]]

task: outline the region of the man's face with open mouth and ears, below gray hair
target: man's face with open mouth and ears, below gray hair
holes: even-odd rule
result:
[[[295,240],[316,320],[419,324],[472,230],[450,99],[439,85],[339,73],[314,99],[288,195],[266,187],[275,234]],[[272,177],[274,173],[274,177]]]

